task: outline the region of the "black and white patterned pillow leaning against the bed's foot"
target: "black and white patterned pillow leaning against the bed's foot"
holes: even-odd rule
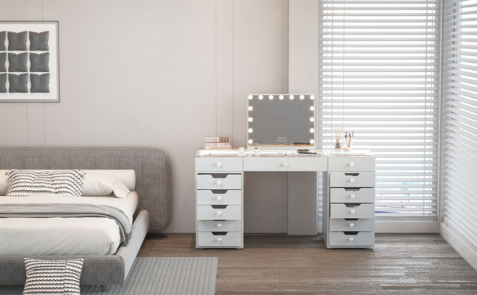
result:
[[[38,260],[25,258],[27,281],[23,295],[80,295],[84,259]]]

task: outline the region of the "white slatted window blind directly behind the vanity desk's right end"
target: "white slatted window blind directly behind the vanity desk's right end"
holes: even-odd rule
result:
[[[376,158],[376,217],[437,220],[440,0],[320,0],[319,145]]]

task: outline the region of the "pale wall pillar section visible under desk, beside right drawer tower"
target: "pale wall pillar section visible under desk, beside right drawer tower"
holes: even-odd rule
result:
[[[316,172],[288,172],[288,235],[316,236]]]

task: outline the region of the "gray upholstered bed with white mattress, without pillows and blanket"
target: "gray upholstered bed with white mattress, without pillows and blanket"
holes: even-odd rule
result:
[[[125,199],[114,196],[77,198],[87,204],[120,208],[132,221],[132,236],[125,245],[118,234],[118,224],[107,218],[42,218],[36,224],[31,223],[31,218],[6,218],[9,220],[0,223],[3,236],[0,241],[0,285],[25,283],[25,257],[47,260],[84,258],[81,285],[102,285],[106,290],[109,285],[122,284],[146,234],[160,232],[171,220],[171,167],[167,154],[160,148],[0,147],[0,170],[13,167],[29,170],[134,170],[135,182],[124,180],[131,190]],[[30,198],[3,197],[0,206],[31,203]],[[56,198],[54,202],[59,203],[77,201],[71,197]],[[42,202],[52,200],[44,198]],[[52,234],[53,230],[56,234]],[[89,233],[89,238],[83,235],[86,233]],[[56,240],[68,242],[52,242],[55,236],[63,236]],[[9,246],[11,244],[15,247]]]

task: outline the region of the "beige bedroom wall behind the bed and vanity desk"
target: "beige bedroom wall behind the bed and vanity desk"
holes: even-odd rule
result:
[[[300,2],[317,1],[0,0],[2,21],[60,22],[60,103],[1,103],[0,145],[165,148],[174,196],[164,232],[194,232],[194,154],[204,138],[246,145],[247,93],[286,93],[289,82],[299,91],[306,81],[316,92],[302,68],[289,75],[289,5],[297,19]],[[301,58],[304,73],[315,71],[310,62]],[[245,232],[286,232],[285,179],[246,178]]]

